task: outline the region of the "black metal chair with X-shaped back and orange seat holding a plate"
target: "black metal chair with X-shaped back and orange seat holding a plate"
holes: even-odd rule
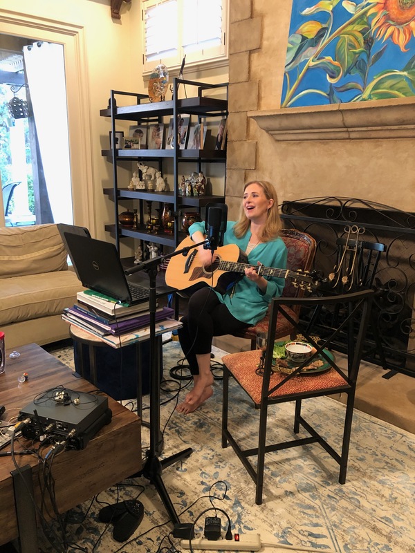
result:
[[[280,449],[317,442],[340,465],[340,484],[344,484],[346,481],[356,380],[373,296],[374,290],[360,290],[350,294],[331,295],[329,297],[275,298],[270,312],[264,374],[260,375],[257,371],[261,355],[260,350],[232,353],[223,357],[222,447],[227,447],[228,444],[232,445],[248,474],[254,480],[256,485],[255,502],[257,505],[262,503],[265,456]],[[287,304],[306,308],[313,308],[317,305],[335,307],[341,304],[347,306],[347,316],[342,317],[338,328],[333,329],[329,337],[318,339],[299,327],[297,321],[285,310]],[[288,368],[279,367],[273,370],[273,347],[278,317],[286,317],[293,328],[302,333],[305,340],[315,348],[315,352],[298,366],[288,364]],[[331,344],[336,339],[338,332],[343,329],[351,332],[353,328],[356,330],[356,325],[358,325],[358,333],[355,341],[349,343],[347,368],[340,368],[335,356],[331,353]],[[313,367],[315,369],[313,374],[308,373],[307,375],[303,369],[308,367],[311,362],[316,362],[317,366]],[[320,370],[318,370],[319,366]],[[237,438],[237,435],[241,436],[243,432],[240,420],[232,421],[232,424],[228,420],[230,413],[232,413],[232,399],[230,399],[232,389],[229,386],[231,376],[250,397],[255,409],[259,409],[257,447],[244,447],[243,441],[246,441],[246,438],[240,438],[240,440]],[[340,453],[326,442],[323,437],[323,430],[319,427],[319,432],[317,432],[310,422],[304,420],[301,412],[302,400],[338,393],[347,394]],[[299,433],[299,427],[302,426],[308,436],[268,444],[266,440],[268,408],[273,404],[282,402],[295,402],[293,433]],[[229,407],[231,408],[229,409]],[[323,422],[319,421],[320,426]],[[278,424],[278,420],[274,415],[270,415],[270,424],[273,427]],[[330,424],[329,421],[328,424]],[[333,429],[330,428],[330,431],[333,431]],[[257,458],[256,466],[255,463],[249,460],[252,456]]]

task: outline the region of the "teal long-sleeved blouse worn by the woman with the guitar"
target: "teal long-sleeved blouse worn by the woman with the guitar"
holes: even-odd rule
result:
[[[234,221],[228,221],[223,237],[223,245],[236,244],[245,252],[251,233],[248,231],[242,238],[237,238],[233,232],[234,225]],[[198,230],[205,234],[204,222],[193,223],[193,225],[189,227],[190,236]],[[248,263],[256,266],[258,261],[266,267],[285,269],[287,263],[287,250],[282,238],[278,237],[269,242],[258,244],[250,254],[248,254]],[[216,290],[214,290],[214,292],[219,300],[225,303],[225,306],[228,307],[228,310],[236,319],[250,325],[255,325],[264,318],[271,299],[280,296],[285,285],[285,279],[273,277],[265,278],[268,281],[265,292],[261,292],[254,282],[246,278],[238,281],[237,284],[225,294],[220,294]]]

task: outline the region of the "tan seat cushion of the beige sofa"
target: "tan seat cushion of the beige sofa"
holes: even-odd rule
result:
[[[3,325],[62,314],[84,290],[73,271],[29,274],[1,281],[0,328]]]

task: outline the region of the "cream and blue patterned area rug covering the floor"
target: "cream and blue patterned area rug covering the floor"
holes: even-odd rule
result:
[[[71,348],[51,353],[73,366]],[[224,352],[214,348],[214,354],[220,359]],[[163,456],[187,447],[194,450],[162,475],[182,523],[194,523],[199,514],[210,509],[196,523],[196,532],[203,532],[205,516],[215,515],[214,505],[228,514],[233,532],[257,532],[268,544],[296,546],[291,548],[294,552],[297,547],[337,553],[415,550],[415,435],[355,411],[345,485],[338,483],[338,465],[318,444],[270,453],[266,456],[264,503],[257,506],[255,486],[241,462],[231,447],[221,449],[221,381],[214,382],[214,395],[195,413],[181,415],[174,411],[178,381],[172,381],[169,369],[182,357],[178,342],[163,347],[165,380],[169,381],[161,392]],[[183,386],[188,381],[180,382]],[[247,447],[254,447],[258,413],[237,386],[231,388],[231,393],[232,418],[245,435]],[[184,394],[180,392],[180,399]],[[310,401],[304,402],[304,413],[329,442],[338,446],[344,406],[328,397]],[[133,401],[123,403],[133,408]],[[279,435],[278,439],[293,437],[293,405],[274,406],[270,418],[275,421],[270,439],[273,435]],[[148,440],[148,430],[143,428],[143,452]],[[98,513],[107,503],[137,496],[145,507],[145,516],[130,541],[119,543],[113,539],[112,526],[100,523]],[[217,514],[225,530],[227,518],[219,511]],[[59,533],[59,527],[55,529]],[[69,512],[66,540],[74,547],[68,550],[80,547],[85,552],[185,551],[172,537],[172,524],[163,503],[145,478],[120,482]],[[42,551],[53,550],[46,540],[42,543]],[[284,550],[270,545],[262,551]]]

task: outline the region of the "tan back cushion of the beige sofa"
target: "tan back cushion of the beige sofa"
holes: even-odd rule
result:
[[[1,279],[66,270],[66,259],[64,243],[54,224],[0,229]]]

